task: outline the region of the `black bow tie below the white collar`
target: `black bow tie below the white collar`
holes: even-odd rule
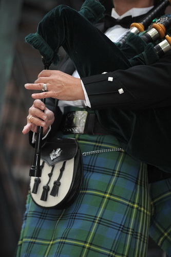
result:
[[[105,29],[111,28],[115,25],[121,25],[123,28],[130,28],[130,25],[134,22],[140,22],[146,14],[132,17],[131,15],[123,17],[122,19],[115,19],[109,14],[105,14],[104,27]]]

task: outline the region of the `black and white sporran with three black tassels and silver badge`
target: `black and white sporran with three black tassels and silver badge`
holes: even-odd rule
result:
[[[83,177],[82,156],[74,138],[54,138],[41,151],[42,176],[31,177],[30,193],[42,208],[65,209],[77,197]]]

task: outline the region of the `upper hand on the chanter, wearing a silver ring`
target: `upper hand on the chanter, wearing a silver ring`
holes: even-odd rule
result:
[[[74,78],[59,70],[43,70],[34,84],[25,84],[26,89],[42,90],[43,84],[47,85],[44,93],[32,94],[34,99],[56,98],[59,100],[74,101],[85,100],[81,79]]]

